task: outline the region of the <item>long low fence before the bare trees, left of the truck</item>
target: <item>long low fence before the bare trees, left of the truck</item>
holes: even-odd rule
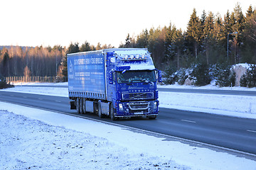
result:
[[[66,82],[68,77],[6,77],[7,83],[18,83],[18,82],[48,82],[58,83]]]

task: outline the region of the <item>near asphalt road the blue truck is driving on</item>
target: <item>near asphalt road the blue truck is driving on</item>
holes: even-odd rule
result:
[[[74,110],[70,110],[69,99],[66,97],[0,91],[0,101],[77,114]],[[83,116],[99,119],[92,113]],[[102,120],[111,121],[110,118]],[[256,120],[254,119],[160,108],[156,120],[132,118],[117,120],[114,123],[256,154]]]

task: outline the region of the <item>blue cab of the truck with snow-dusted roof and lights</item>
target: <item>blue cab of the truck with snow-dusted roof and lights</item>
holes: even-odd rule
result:
[[[161,72],[156,70],[146,49],[116,50],[110,57],[108,98],[113,103],[110,117],[146,116],[159,113],[159,94],[156,86]],[[113,114],[113,115],[111,115]]]

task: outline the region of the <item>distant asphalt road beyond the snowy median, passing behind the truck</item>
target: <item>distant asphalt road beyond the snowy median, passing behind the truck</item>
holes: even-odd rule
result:
[[[21,86],[21,85],[18,85]],[[40,86],[40,87],[58,87],[68,88],[68,86],[52,86],[52,85],[22,85],[22,86]],[[158,87],[159,91],[192,93],[192,94],[223,94],[223,95],[241,95],[241,96],[256,96],[256,91],[237,91],[237,90],[213,90],[213,89],[172,89]]]

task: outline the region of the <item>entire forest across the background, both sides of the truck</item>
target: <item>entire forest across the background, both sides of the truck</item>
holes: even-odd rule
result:
[[[68,47],[19,47],[0,49],[0,74],[3,77],[67,77],[66,56],[72,52],[84,52],[112,48],[100,42],[70,42]],[[156,68],[163,71],[191,64],[256,64],[256,11],[249,6],[246,13],[236,4],[233,11],[222,17],[219,13],[202,12],[196,8],[188,21],[186,30],[169,26],[142,30],[139,35],[127,34],[119,47],[146,47]]]

